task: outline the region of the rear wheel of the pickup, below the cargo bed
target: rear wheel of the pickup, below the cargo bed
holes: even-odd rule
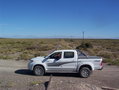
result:
[[[82,78],[88,78],[91,74],[91,70],[88,67],[82,67],[79,74]]]

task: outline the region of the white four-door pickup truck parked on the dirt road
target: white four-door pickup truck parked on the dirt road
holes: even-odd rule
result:
[[[87,56],[78,50],[57,50],[46,57],[35,57],[29,60],[28,69],[35,75],[45,73],[78,73],[87,78],[93,70],[101,70],[102,58]]]

